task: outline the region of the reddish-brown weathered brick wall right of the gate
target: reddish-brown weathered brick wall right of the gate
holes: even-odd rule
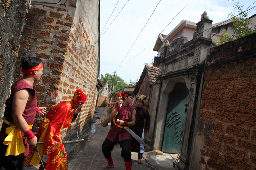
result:
[[[210,49],[199,121],[201,169],[256,169],[256,33]]]

